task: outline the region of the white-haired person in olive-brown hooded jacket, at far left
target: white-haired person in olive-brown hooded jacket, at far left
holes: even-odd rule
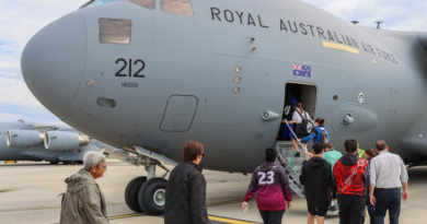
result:
[[[83,167],[65,180],[60,224],[108,224],[105,198],[95,181],[106,170],[106,158],[100,152],[86,152]]]

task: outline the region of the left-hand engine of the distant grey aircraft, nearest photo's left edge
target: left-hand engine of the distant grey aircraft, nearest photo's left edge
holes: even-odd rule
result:
[[[10,148],[31,148],[43,143],[45,134],[35,130],[9,130],[7,142]]]

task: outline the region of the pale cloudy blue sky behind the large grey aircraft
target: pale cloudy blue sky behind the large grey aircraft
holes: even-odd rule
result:
[[[0,1],[0,121],[62,123],[33,96],[21,74],[21,54],[41,28],[88,0]],[[262,0],[259,0],[262,1]],[[346,21],[397,31],[426,31],[426,0],[303,0]]]

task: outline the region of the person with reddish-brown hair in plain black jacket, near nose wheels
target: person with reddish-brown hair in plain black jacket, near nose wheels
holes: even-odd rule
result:
[[[164,204],[165,224],[210,224],[206,209],[206,179],[200,161],[204,146],[189,141],[184,145],[184,161],[171,173]]]

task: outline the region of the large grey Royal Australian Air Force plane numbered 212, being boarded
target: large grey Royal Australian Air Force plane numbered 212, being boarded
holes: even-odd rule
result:
[[[282,153],[288,94],[326,119],[332,140],[384,139],[407,164],[427,158],[427,33],[363,27],[297,0],[90,1],[39,31],[22,55],[32,93],[66,123],[138,154],[135,211],[161,214],[163,163],[188,140],[206,168],[249,173]]]

